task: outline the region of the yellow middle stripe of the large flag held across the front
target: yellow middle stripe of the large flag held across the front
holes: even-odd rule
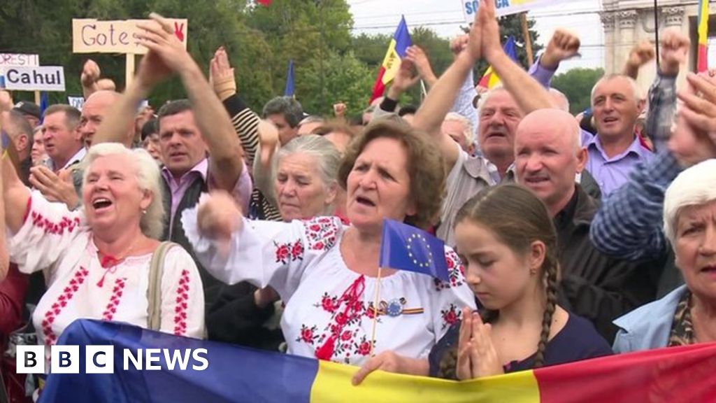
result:
[[[375,371],[357,387],[351,384],[357,366],[320,361],[311,388],[311,403],[440,402],[538,403],[540,394],[533,371],[490,376],[469,382]]]

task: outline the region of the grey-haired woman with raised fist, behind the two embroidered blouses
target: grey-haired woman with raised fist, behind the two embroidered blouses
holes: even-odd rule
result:
[[[256,158],[253,171],[256,187],[279,209],[284,222],[334,215],[341,191],[337,148],[314,134],[296,137],[278,148],[275,131],[271,125],[259,126],[257,155],[261,158]]]

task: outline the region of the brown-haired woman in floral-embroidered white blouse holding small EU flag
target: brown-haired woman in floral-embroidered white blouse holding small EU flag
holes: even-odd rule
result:
[[[334,217],[252,222],[225,194],[213,194],[198,211],[183,214],[185,231],[217,278],[271,285],[279,293],[290,354],[365,364],[362,376],[372,369],[426,375],[430,348],[460,308],[475,307],[455,252],[445,249],[450,283],[382,270],[374,346],[372,301],[383,219],[425,228],[439,213],[445,178],[434,148],[406,125],[369,125],[339,169],[349,227]],[[369,359],[372,348],[377,356]]]

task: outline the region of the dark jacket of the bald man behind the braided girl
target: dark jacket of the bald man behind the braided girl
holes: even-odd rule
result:
[[[663,267],[653,260],[629,262],[596,250],[589,227],[598,202],[576,185],[565,209],[555,217],[560,249],[560,304],[589,319],[610,343],[616,326],[611,321],[656,298]],[[660,259],[662,259],[661,257]]]

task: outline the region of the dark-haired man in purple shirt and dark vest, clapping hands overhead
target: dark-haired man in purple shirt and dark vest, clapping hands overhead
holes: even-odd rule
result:
[[[165,163],[162,177],[166,225],[162,239],[177,242],[193,256],[180,223],[183,209],[194,207],[201,194],[217,189],[230,192],[246,212],[251,178],[243,161],[241,143],[221,100],[168,23],[161,17],[154,18],[154,22],[142,24],[142,29],[151,33],[140,34],[142,44],[150,50],[142,58],[135,79],[102,120],[93,143],[124,141],[127,130],[133,127],[137,105],[147,98],[150,90],[172,75],[180,77],[188,100],[164,105],[158,118],[160,151]],[[199,267],[205,301],[211,305],[221,283],[194,260]]]

